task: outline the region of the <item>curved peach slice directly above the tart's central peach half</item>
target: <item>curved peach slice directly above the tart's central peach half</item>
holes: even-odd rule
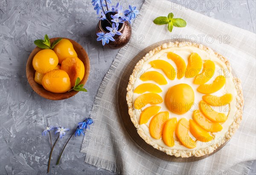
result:
[[[181,79],[186,74],[185,61],[179,55],[173,52],[169,52],[167,57],[175,62],[175,65],[177,66],[177,79]]]

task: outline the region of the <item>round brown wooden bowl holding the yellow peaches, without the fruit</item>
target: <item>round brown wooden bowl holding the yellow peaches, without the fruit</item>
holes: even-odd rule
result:
[[[68,38],[66,38],[68,39]],[[52,42],[54,42],[55,40],[58,40],[58,38],[51,38],[50,42],[52,44]],[[70,40],[70,39],[68,39]],[[89,61],[89,57],[86,53],[86,51],[84,50],[84,48],[82,48],[82,46],[73,41],[70,40],[70,42],[72,42],[73,47],[79,57],[79,59],[81,59],[81,61],[84,63],[84,78],[81,80],[80,84],[84,84],[86,83],[88,76],[89,76],[89,70],[90,70],[90,61]],[[31,88],[40,96],[46,98],[46,99],[50,99],[50,100],[63,100],[63,99],[68,99],[74,95],[76,95],[76,93],[78,93],[79,91],[76,90],[71,90],[70,92],[65,92],[65,93],[52,93],[48,90],[45,90],[44,87],[42,85],[39,85],[37,82],[35,82],[34,78],[35,78],[35,69],[33,68],[32,65],[32,60],[35,56],[35,54],[37,54],[39,51],[41,51],[41,48],[36,47],[31,54],[29,55],[29,59],[27,61],[26,64],[26,76],[29,82],[29,85],[31,86]]]

